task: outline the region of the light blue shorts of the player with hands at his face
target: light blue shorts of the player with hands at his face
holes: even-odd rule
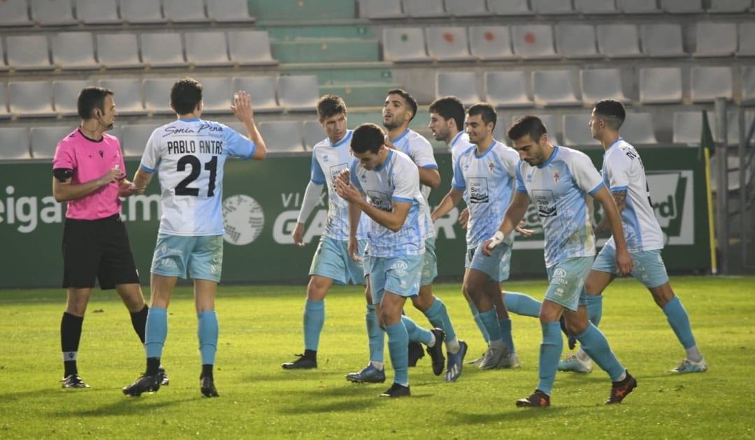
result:
[[[402,297],[416,297],[420,291],[422,255],[400,257],[369,257],[372,303],[380,304],[385,291]]]

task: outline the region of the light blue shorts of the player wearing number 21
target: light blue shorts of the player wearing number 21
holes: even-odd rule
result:
[[[184,237],[158,234],[151,271],[157,275],[220,282],[223,272],[223,235]]]

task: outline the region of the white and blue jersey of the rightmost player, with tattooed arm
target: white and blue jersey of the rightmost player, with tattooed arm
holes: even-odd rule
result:
[[[643,160],[621,137],[606,149],[601,170],[603,183],[611,192],[626,191],[627,205],[621,211],[621,225],[630,252],[663,248],[663,232],[650,203],[650,189]],[[615,248],[613,235],[607,246]]]

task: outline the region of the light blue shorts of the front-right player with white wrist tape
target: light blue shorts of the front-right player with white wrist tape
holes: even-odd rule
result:
[[[548,268],[548,291],[545,299],[575,312],[587,304],[584,280],[593,266],[593,257],[573,257]]]

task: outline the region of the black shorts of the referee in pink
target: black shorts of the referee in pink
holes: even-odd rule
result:
[[[103,290],[139,282],[126,226],[119,214],[100,220],[66,218],[63,226],[63,288]]]

